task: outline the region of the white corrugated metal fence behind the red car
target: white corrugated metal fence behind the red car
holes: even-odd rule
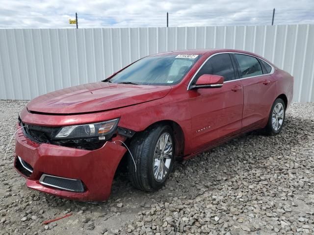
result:
[[[0,99],[31,99],[99,81],[149,54],[233,48],[294,78],[294,101],[314,101],[314,25],[0,29]]]

